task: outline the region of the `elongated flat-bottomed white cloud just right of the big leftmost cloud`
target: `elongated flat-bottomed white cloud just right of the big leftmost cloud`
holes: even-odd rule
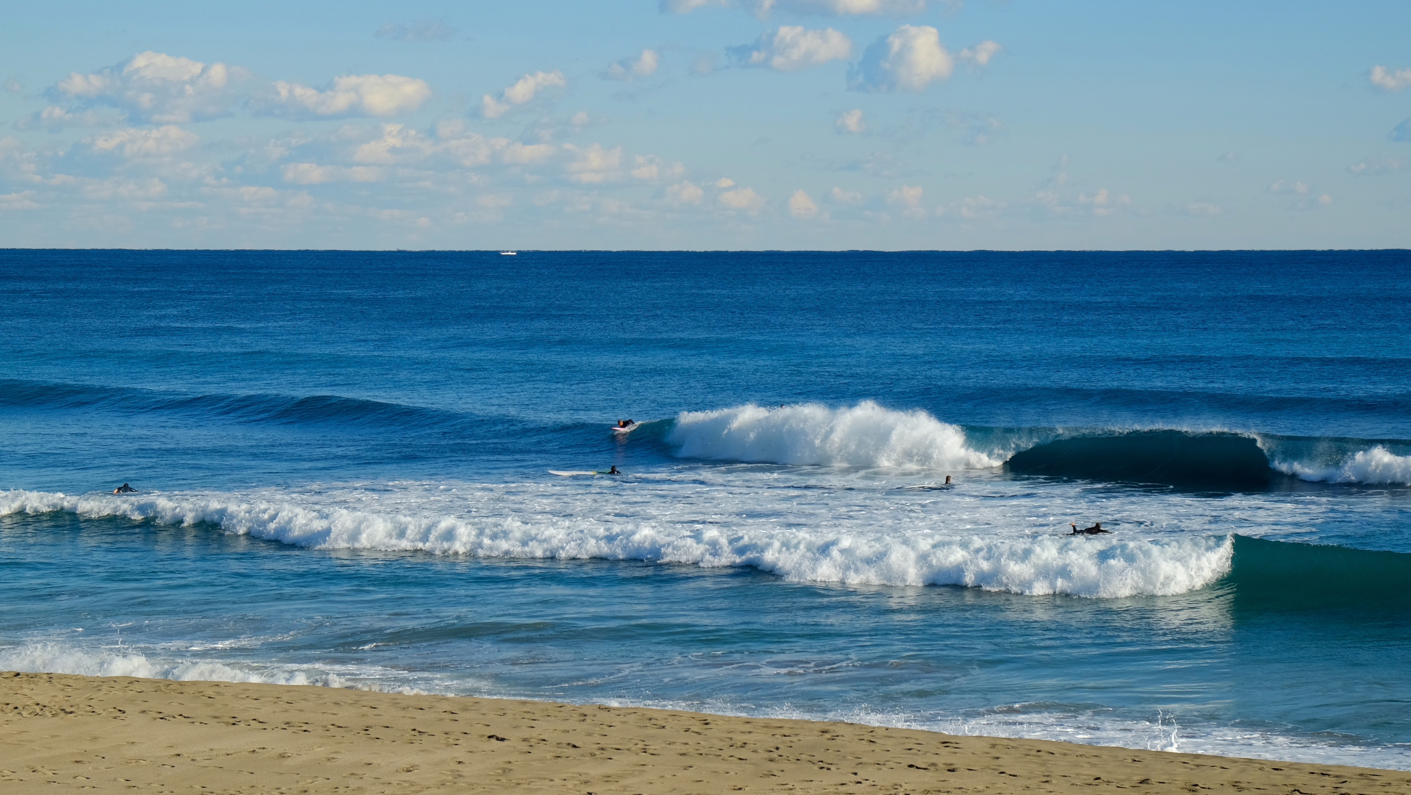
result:
[[[261,111],[286,118],[396,116],[419,109],[432,97],[426,80],[401,75],[343,75],[327,90],[278,80]]]

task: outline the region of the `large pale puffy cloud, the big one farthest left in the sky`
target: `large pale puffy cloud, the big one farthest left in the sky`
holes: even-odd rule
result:
[[[247,78],[238,66],[147,51],[99,72],[72,72],[48,94],[72,110],[107,106],[131,121],[186,124],[229,116],[234,83]]]

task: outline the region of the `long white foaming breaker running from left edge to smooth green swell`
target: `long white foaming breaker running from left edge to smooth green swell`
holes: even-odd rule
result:
[[[406,516],[231,495],[71,496],[0,492],[0,514],[68,512],[159,524],[219,526],[319,550],[385,550],[485,558],[638,560],[752,567],[799,582],[961,585],[1024,595],[1173,595],[1225,577],[1229,537],[979,537],[847,533],[809,527],[727,529],[615,517]]]

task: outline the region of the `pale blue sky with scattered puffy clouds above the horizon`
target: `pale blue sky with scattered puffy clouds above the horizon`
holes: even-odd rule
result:
[[[0,247],[1411,248],[1411,3],[27,3]]]

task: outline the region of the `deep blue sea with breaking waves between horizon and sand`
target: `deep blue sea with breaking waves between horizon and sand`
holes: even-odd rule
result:
[[[0,251],[0,668],[1411,770],[1411,252]]]

